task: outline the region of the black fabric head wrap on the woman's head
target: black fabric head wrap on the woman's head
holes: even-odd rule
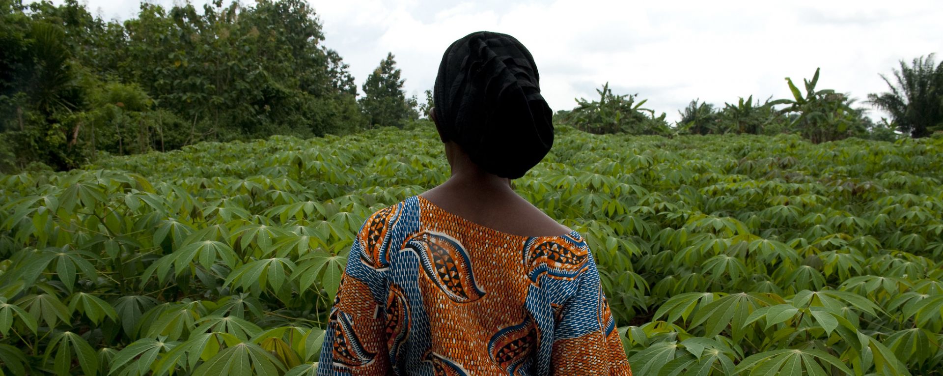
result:
[[[455,41],[434,93],[445,141],[491,174],[521,178],[554,145],[553,111],[539,79],[534,57],[510,35],[479,31]]]

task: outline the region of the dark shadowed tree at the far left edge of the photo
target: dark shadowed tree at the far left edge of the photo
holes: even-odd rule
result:
[[[33,7],[48,6],[47,3]],[[67,4],[68,6],[68,4]],[[63,26],[26,17],[20,1],[0,3],[0,130],[4,161],[14,170],[41,161],[58,169],[85,162],[74,147],[87,91]]]

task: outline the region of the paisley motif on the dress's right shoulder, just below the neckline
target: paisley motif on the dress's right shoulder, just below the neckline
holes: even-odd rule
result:
[[[529,267],[527,276],[533,283],[543,277],[571,281],[586,271],[588,249],[582,237],[572,234],[528,238],[523,248],[523,263]]]

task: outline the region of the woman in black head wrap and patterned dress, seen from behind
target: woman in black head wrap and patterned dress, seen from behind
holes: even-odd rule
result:
[[[530,52],[472,33],[439,65],[452,177],[372,214],[331,310],[319,375],[631,375],[582,235],[511,188],[554,142]]]

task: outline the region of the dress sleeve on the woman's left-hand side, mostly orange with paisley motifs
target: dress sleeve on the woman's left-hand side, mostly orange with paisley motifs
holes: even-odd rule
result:
[[[319,376],[391,374],[384,310],[389,258],[389,208],[357,232],[325,328]]]

